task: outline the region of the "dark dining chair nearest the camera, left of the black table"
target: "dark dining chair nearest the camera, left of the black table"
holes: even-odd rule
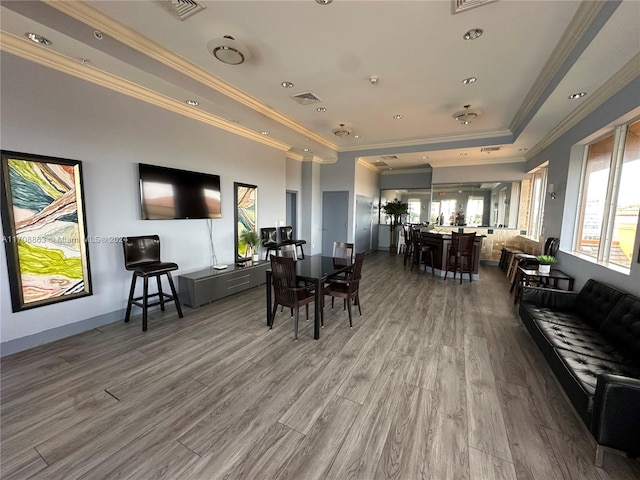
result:
[[[295,260],[291,257],[276,257],[271,255],[271,278],[273,285],[273,311],[271,312],[271,324],[273,329],[278,305],[293,310],[295,315],[294,339],[298,340],[298,318],[300,307],[306,307],[307,320],[309,319],[309,304],[314,301],[315,289],[310,285],[298,285],[296,280]]]

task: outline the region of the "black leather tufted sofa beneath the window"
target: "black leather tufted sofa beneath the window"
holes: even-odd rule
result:
[[[640,455],[640,298],[596,280],[580,292],[523,287],[520,318],[593,434]]]

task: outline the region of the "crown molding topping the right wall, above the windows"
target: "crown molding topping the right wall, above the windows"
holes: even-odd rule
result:
[[[530,159],[538,155],[570,128],[577,125],[578,122],[638,77],[640,77],[640,53],[636,53],[631,60],[613,74],[598,90],[584,98],[578,108],[553,127],[533,148],[529,149],[526,158]]]

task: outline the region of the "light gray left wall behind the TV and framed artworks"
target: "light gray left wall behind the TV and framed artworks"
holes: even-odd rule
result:
[[[233,182],[258,186],[258,227],[284,220],[285,191],[297,180],[286,177],[283,152],[11,55],[2,54],[1,62],[2,148],[83,162],[89,236],[158,234],[162,257],[180,266],[178,274],[211,262],[206,220],[140,220],[138,162],[221,176],[223,217],[213,220],[219,263],[234,258]],[[46,341],[38,334],[122,318],[131,276],[121,244],[91,243],[89,255],[92,296],[19,313],[11,311],[1,259],[1,341],[34,335]]]

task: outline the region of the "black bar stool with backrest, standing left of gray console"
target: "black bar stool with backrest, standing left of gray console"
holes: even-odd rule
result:
[[[124,247],[124,266],[133,272],[131,279],[131,289],[129,290],[129,301],[127,302],[127,313],[124,321],[129,321],[131,306],[137,305],[142,308],[142,331],[147,331],[147,309],[155,305],[160,305],[164,311],[165,302],[175,302],[178,317],[182,318],[180,300],[176,293],[176,287],[171,278],[171,271],[177,270],[178,265],[171,262],[160,261],[160,237],[158,235],[145,235],[140,237],[125,237],[122,240]],[[171,287],[171,295],[162,291],[161,275],[166,275]],[[141,297],[133,297],[136,289],[136,281],[142,277],[143,288]],[[155,277],[158,282],[158,293],[149,295],[149,277]],[[157,302],[149,303],[149,298],[158,297]],[[140,302],[142,300],[142,302]]]

